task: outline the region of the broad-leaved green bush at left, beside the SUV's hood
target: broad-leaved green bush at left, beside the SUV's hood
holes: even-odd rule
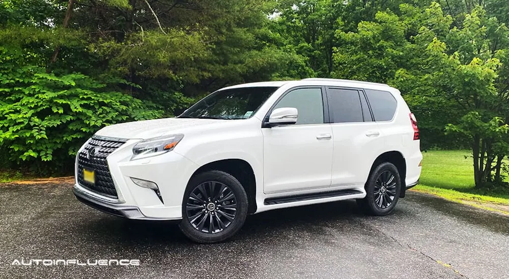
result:
[[[2,59],[0,59],[0,62]],[[161,117],[149,102],[82,74],[55,76],[38,66],[0,65],[0,150],[38,173],[72,169],[80,145],[105,125]],[[52,169],[42,168],[53,161]]]

